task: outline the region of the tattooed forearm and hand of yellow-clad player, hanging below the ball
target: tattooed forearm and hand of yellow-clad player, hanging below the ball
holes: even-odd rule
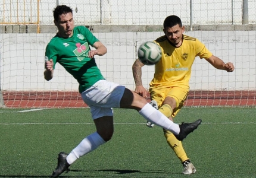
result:
[[[142,85],[142,71],[141,68],[144,66],[144,64],[141,62],[141,60],[136,59],[136,61],[132,65],[132,74],[135,81],[135,93],[138,93],[140,96],[146,98],[146,89]]]

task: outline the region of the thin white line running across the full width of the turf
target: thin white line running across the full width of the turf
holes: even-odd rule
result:
[[[0,123],[0,125],[92,125],[93,122],[62,122],[62,123]],[[145,122],[142,123],[125,123],[119,122],[114,123],[114,125],[135,125],[135,124],[146,124]],[[256,124],[256,122],[205,122],[202,124]]]

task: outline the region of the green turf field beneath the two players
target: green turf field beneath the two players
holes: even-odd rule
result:
[[[183,141],[190,177],[256,177],[255,108],[185,107],[175,122],[202,119]],[[158,126],[135,110],[114,109],[113,139],[60,177],[187,177]],[[60,151],[95,131],[89,109],[0,109],[0,177],[49,177]]]

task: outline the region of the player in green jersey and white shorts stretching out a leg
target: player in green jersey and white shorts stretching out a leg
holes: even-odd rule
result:
[[[69,154],[58,154],[58,165],[52,177],[59,176],[79,157],[111,139],[114,132],[113,107],[135,109],[145,119],[175,134],[179,140],[186,138],[202,122],[198,119],[177,125],[154,109],[145,98],[122,85],[105,80],[94,57],[107,53],[107,48],[86,27],[74,27],[70,7],[57,6],[54,9],[54,23],[58,33],[46,46],[45,80],[52,79],[57,62],[76,78],[83,101],[90,107],[96,132],[86,136]]]

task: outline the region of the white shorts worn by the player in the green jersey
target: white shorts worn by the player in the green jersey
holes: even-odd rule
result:
[[[114,82],[99,80],[81,94],[83,101],[90,107],[92,119],[113,116],[112,107],[120,107],[125,87]]]

